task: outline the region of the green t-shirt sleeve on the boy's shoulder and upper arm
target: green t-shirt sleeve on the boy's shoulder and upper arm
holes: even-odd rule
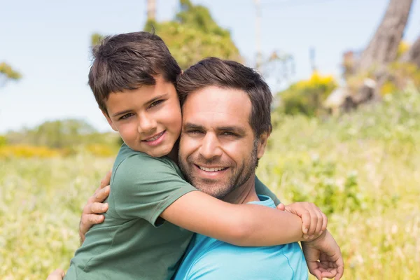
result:
[[[197,190],[176,172],[169,160],[132,155],[118,165],[111,182],[110,200],[120,218],[158,218],[179,197]]]

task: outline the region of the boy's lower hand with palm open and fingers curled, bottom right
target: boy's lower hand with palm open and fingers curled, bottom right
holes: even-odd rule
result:
[[[344,273],[342,253],[337,242],[328,230],[311,241],[302,241],[302,250],[309,272],[318,280],[326,278],[341,279]]]

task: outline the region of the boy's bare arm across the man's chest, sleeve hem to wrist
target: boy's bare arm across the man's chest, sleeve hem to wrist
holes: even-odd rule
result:
[[[160,215],[192,232],[237,246],[273,246],[302,241],[302,219],[255,204],[230,204],[205,193],[187,193]]]

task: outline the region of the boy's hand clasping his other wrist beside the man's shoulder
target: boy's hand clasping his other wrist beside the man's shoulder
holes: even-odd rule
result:
[[[279,204],[277,209],[288,211],[302,218],[303,238],[314,239],[327,229],[328,219],[322,211],[310,202],[295,202],[289,205]]]

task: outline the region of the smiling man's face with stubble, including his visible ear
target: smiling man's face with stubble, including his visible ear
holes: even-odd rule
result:
[[[255,174],[266,141],[255,141],[250,114],[251,100],[241,90],[211,86],[188,95],[179,165],[195,188],[223,198]]]

